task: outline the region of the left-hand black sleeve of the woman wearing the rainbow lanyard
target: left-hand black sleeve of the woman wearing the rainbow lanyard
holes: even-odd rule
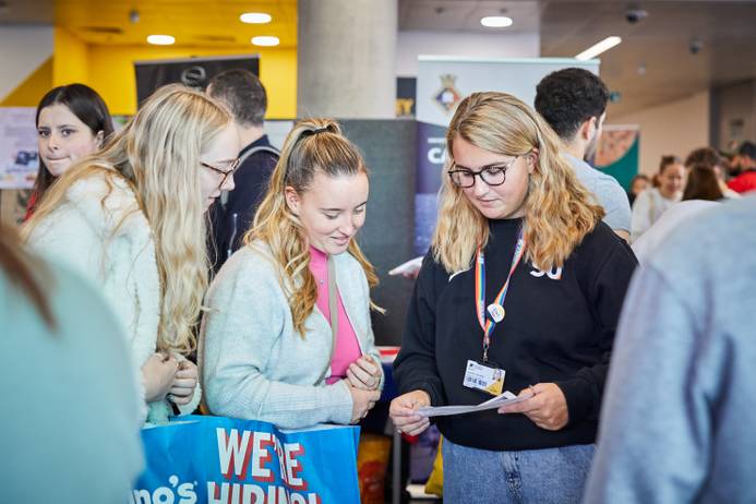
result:
[[[431,397],[432,406],[446,405],[435,360],[435,303],[439,276],[447,277],[441,266],[433,262],[429,252],[415,284],[401,338],[401,349],[394,361],[394,380],[399,393],[424,391]]]

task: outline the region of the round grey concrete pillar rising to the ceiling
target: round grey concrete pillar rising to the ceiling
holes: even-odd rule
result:
[[[397,0],[299,0],[297,116],[393,119]]]

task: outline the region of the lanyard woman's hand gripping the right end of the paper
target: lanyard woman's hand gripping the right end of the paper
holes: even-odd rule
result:
[[[521,403],[502,406],[500,413],[523,413],[528,417],[536,425],[548,431],[559,431],[567,424],[569,413],[567,411],[567,399],[564,393],[555,383],[539,383],[537,385],[523,388],[518,395],[530,396]]]

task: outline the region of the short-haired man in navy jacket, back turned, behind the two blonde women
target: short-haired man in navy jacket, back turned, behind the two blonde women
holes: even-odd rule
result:
[[[211,80],[207,94],[231,112],[244,146],[239,153],[239,168],[233,173],[236,188],[223,193],[211,208],[209,257],[217,272],[242,245],[241,240],[252,225],[279,153],[263,131],[267,96],[252,72],[241,69],[221,72]]]

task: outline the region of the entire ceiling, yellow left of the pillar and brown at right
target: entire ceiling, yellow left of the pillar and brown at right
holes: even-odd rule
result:
[[[316,1],[316,0],[315,0]],[[383,1],[383,0],[373,0]],[[631,24],[633,3],[648,16]],[[3,8],[2,5],[7,7]],[[612,116],[756,77],[756,1],[398,0],[399,29],[485,32],[483,15],[506,13],[505,33],[540,32],[541,56],[573,57],[609,35],[623,43],[601,55],[601,76],[620,99]],[[130,12],[139,12],[139,21]],[[247,25],[242,12],[273,15]],[[144,44],[169,33],[177,45],[235,47],[274,35],[297,45],[297,0],[0,0],[0,24],[57,24],[93,44]],[[692,53],[691,43],[700,50]]]

